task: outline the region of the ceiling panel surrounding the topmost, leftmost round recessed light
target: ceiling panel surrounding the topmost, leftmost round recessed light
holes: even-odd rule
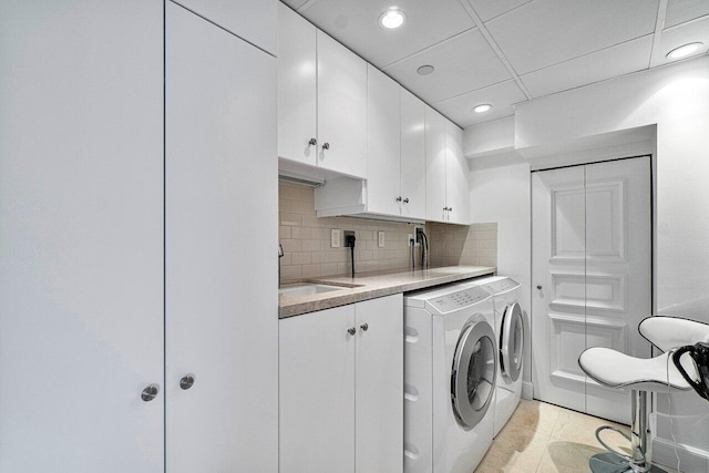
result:
[[[397,30],[379,25],[391,0],[311,0],[298,12],[379,69],[475,25],[460,0],[398,0],[393,4],[407,16],[405,24]]]

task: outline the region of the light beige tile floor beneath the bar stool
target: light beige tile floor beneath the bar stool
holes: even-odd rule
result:
[[[604,451],[594,435],[600,425],[615,425],[626,434],[630,431],[604,419],[523,399],[475,473],[590,472],[588,460]],[[629,444],[619,434],[608,431],[603,438],[629,454]]]

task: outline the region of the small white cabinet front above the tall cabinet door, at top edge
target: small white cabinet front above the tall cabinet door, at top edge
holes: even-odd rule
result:
[[[176,2],[249,43],[276,53],[277,0],[178,0]]]

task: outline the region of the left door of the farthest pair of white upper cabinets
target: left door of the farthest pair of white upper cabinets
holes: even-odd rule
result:
[[[445,119],[425,107],[425,216],[445,222]]]

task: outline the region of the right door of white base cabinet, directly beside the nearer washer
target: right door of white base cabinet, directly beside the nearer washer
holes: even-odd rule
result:
[[[357,472],[403,470],[403,296],[357,304]]]

